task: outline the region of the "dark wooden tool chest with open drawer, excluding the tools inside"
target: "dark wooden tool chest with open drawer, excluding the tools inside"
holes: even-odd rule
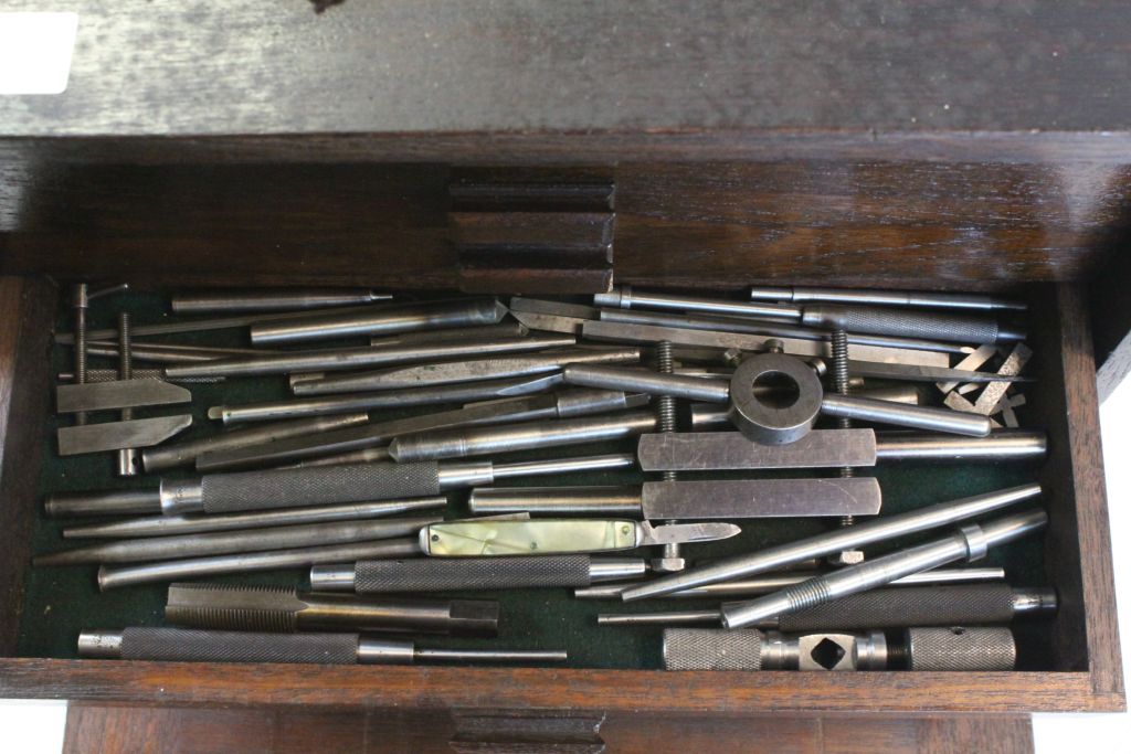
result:
[[[1117,381],[1125,3],[61,5],[80,15],[68,92],[0,98],[0,696],[549,717],[1123,709],[1094,354]],[[1045,669],[14,657],[46,353],[60,286],[83,279],[1025,297],[1061,605]]]

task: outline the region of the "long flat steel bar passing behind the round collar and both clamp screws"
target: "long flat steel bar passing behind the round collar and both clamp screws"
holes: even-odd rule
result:
[[[814,331],[817,332],[817,331]],[[659,327],[655,324],[632,324],[611,320],[582,321],[581,335],[589,340],[610,340],[620,343],[661,343],[667,340],[679,346],[708,348],[713,350],[761,352],[765,349],[768,336],[745,335],[719,330],[692,330],[677,327]],[[802,357],[824,358],[828,346],[820,340],[801,338],[779,338],[783,347],[789,354]],[[950,355],[940,350],[910,350],[905,348],[887,348],[880,346],[855,346],[853,354],[877,362],[895,362],[897,364],[920,364],[935,369],[944,367],[950,362]]]

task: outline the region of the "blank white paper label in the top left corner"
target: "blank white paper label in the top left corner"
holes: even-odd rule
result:
[[[0,95],[62,94],[78,14],[0,14]]]

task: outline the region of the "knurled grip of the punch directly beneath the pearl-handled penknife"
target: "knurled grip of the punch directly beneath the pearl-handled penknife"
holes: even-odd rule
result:
[[[588,555],[360,561],[354,569],[359,595],[587,586]]]

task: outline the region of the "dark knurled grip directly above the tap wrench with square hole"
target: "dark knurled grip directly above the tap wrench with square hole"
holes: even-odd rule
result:
[[[1013,618],[1009,584],[877,589],[783,615],[778,630],[856,631],[932,625],[983,625]]]

